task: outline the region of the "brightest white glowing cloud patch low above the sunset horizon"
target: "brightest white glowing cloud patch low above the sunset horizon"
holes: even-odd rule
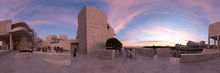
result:
[[[154,26],[151,29],[145,29],[143,32],[147,34],[157,35],[158,39],[170,41],[180,44],[186,44],[187,41],[200,41],[200,36],[191,34],[182,30],[174,30],[168,27]]]

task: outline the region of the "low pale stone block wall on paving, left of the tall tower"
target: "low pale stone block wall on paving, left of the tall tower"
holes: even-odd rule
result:
[[[49,64],[71,66],[71,57],[70,53],[48,53],[43,60]]]

